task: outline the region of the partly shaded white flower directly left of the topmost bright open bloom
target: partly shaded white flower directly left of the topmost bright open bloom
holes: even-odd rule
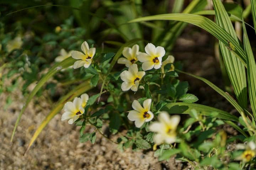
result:
[[[118,64],[125,64],[126,67],[130,67],[131,64],[134,64],[138,59],[137,56],[140,54],[139,52],[139,45],[135,44],[132,48],[125,47],[123,48],[123,56],[125,58],[119,58],[117,63]]]

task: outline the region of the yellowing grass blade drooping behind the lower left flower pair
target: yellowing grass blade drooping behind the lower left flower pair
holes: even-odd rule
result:
[[[86,80],[85,82],[81,83],[80,85],[78,85],[76,88],[74,88],[72,91],[70,91],[68,94],[66,94],[65,96],[63,96],[57,104],[55,104],[55,106],[53,107],[52,111],[50,111],[50,113],[45,117],[45,119],[41,122],[41,124],[39,125],[39,127],[37,128],[36,132],[34,133],[34,135],[32,136],[28,148],[26,149],[26,151],[24,152],[24,154],[29,150],[29,148],[31,147],[31,145],[34,143],[34,141],[36,140],[36,138],[38,137],[38,135],[42,132],[42,130],[45,128],[45,126],[50,122],[50,120],[52,120],[52,118],[61,111],[61,109],[63,108],[64,104],[68,101],[73,100],[75,97],[83,94],[84,92],[90,90],[92,87],[90,85],[90,80]]]

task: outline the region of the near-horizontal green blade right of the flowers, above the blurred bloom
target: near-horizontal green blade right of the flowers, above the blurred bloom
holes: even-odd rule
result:
[[[204,106],[202,104],[177,102],[177,103],[168,103],[166,104],[166,107],[167,108],[163,108],[163,110],[171,114],[190,114],[190,111],[192,109],[196,109],[196,111],[198,111],[200,114],[205,116],[210,116],[212,112],[218,112],[219,113],[218,118],[238,122],[238,117],[228,112],[222,111],[220,109]]]

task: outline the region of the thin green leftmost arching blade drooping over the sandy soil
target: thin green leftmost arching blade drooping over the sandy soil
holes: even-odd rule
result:
[[[31,99],[36,95],[37,91],[44,85],[45,82],[47,82],[47,80],[49,80],[55,73],[57,73],[58,71],[60,71],[61,69],[65,69],[66,67],[72,66],[74,64],[76,60],[69,57],[65,60],[63,60],[60,63],[55,64],[48,72],[47,74],[44,75],[44,77],[41,78],[41,80],[37,83],[36,87],[31,91],[31,93],[29,94],[26,103],[24,104],[24,106],[21,109],[21,112],[18,115],[18,118],[15,122],[15,126],[13,128],[13,133],[11,135],[11,142],[13,141],[13,136],[14,133],[16,131],[16,128],[18,126],[19,120],[21,119],[22,114],[24,113],[25,109],[27,108],[29,102],[31,101]]]

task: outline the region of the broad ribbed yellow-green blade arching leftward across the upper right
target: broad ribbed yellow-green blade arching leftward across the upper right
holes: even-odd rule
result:
[[[171,21],[182,21],[188,22],[195,26],[201,27],[210,34],[214,35],[217,39],[224,43],[224,45],[231,49],[232,52],[241,60],[241,62],[246,65],[246,55],[243,48],[240,46],[240,43],[228,34],[227,31],[218,26],[215,22],[210,19],[195,15],[195,14],[160,14],[154,16],[146,16],[142,18],[137,18],[129,22],[141,22],[141,21],[152,21],[152,20],[171,20]],[[230,47],[232,45],[232,48]]]

